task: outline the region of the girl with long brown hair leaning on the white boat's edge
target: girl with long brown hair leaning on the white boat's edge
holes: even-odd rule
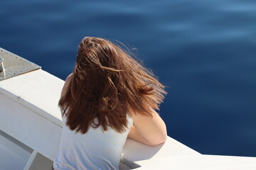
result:
[[[146,145],[166,141],[154,110],[164,86],[127,52],[102,38],[85,37],[65,80],[60,152],[53,169],[119,169],[127,136]]]

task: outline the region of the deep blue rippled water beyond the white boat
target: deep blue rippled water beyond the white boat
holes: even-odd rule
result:
[[[256,157],[256,1],[1,0],[0,47],[65,79],[80,40],[137,48],[169,94],[168,134],[203,154]]]

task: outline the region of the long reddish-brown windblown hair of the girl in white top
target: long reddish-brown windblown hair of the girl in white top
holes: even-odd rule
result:
[[[129,52],[102,38],[85,37],[68,89],[59,106],[70,130],[124,132],[129,111],[152,116],[163,101],[164,86]]]

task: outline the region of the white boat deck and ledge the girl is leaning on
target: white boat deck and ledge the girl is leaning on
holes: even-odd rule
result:
[[[60,142],[63,84],[42,69],[0,81],[1,169],[50,169]],[[128,139],[119,168],[244,170],[256,169],[256,158],[203,155],[171,137],[156,147]]]

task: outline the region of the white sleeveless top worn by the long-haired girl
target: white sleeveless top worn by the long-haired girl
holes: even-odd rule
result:
[[[119,169],[122,148],[127,139],[132,118],[127,116],[128,128],[119,133],[108,127],[89,128],[85,134],[70,130],[63,117],[60,151],[55,157],[55,170]]]

